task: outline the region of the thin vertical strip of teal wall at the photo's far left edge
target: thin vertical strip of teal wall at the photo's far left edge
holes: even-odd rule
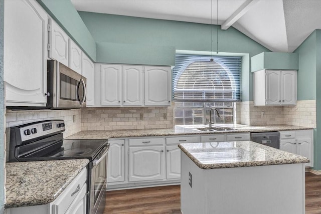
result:
[[[0,0],[0,213],[5,204],[4,0]]]

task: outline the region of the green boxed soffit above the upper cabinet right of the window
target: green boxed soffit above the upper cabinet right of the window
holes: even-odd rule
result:
[[[251,71],[262,69],[298,70],[297,53],[263,52],[251,57]]]

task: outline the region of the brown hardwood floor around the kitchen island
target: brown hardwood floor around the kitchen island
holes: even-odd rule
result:
[[[180,214],[179,185],[107,191],[104,213]],[[305,173],[305,213],[321,214],[321,175]]]

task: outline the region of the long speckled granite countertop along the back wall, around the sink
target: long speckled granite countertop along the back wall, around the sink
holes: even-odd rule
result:
[[[312,129],[308,127],[291,126],[291,125],[247,126],[247,125],[225,124],[220,126],[233,128],[235,130],[202,132],[197,130],[197,128],[206,127],[206,125],[194,125],[194,126],[175,126],[175,128],[169,128],[169,129],[81,131],[69,136],[67,139],[108,139],[108,138],[123,138],[123,137],[171,136],[171,135],[217,134],[217,133],[240,133],[240,132],[269,132],[269,131]]]

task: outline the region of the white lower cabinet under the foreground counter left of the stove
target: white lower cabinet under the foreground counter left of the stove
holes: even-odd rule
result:
[[[85,214],[87,205],[87,168],[71,181],[66,189],[51,203],[6,209],[6,214]]]

